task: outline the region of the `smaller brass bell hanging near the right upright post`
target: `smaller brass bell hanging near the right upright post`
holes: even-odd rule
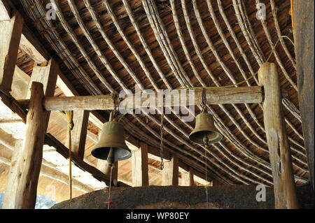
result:
[[[214,125],[214,117],[209,113],[200,113],[196,116],[196,126],[189,135],[194,143],[209,145],[221,141],[222,135]]]

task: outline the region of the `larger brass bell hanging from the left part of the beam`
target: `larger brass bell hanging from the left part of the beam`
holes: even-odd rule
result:
[[[101,138],[92,150],[92,155],[110,163],[130,158],[132,153],[125,143],[123,124],[116,121],[106,122],[101,132]]]

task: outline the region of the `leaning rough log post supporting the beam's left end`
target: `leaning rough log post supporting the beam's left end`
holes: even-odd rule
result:
[[[36,192],[45,138],[46,113],[43,110],[43,85],[31,85],[31,101],[27,113],[25,139],[22,150],[15,152],[10,166],[3,208],[35,208]]]

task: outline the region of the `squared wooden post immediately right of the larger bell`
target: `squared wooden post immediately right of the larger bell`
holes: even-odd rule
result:
[[[148,145],[140,142],[139,150],[132,151],[132,187],[148,186]]]

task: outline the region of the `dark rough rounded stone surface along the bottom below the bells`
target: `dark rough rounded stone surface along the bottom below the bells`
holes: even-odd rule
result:
[[[272,188],[266,188],[266,201],[258,202],[255,186],[227,185],[208,188],[208,208],[274,208]],[[314,208],[314,194],[311,186],[298,187],[297,194],[301,208]],[[57,203],[52,208],[106,209],[108,189],[102,189]],[[111,190],[113,209],[193,209],[207,208],[204,187],[130,187]]]

